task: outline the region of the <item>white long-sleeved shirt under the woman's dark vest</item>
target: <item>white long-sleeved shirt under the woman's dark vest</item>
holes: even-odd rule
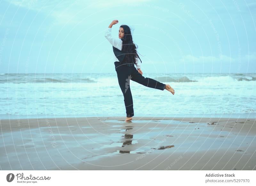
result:
[[[113,38],[111,31],[112,31],[112,28],[107,28],[107,29],[106,29],[106,32],[105,32],[105,37],[107,38],[107,40],[109,41],[109,43],[112,44],[112,46],[116,47],[116,48],[119,49],[119,50],[122,50],[123,41],[122,41],[121,39],[119,39],[119,38],[118,38],[118,39],[117,39],[117,38]],[[113,53],[114,53],[114,52],[113,52]],[[114,54],[114,60],[115,60],[115,61],[119,61],[119,60],[116,58],[115,54]],[[137,60],[136,62],[137,62],[138,64],[135,64],[135,65],[136,65],[136,67],[137,67],[137,69],[138,69],[138,68],[141,67],[141,61],[140,61],[140,60]]]

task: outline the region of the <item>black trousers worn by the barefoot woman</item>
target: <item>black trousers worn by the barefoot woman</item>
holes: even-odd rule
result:
[[[153,80],[151,78],[145,78],[142,76],[134,65],[127,66],[126,64],[120,64],[119,61],[115,63],[116,74],[118,78],[119,86],[124,95],[124,105],[126,109],[126,117],[134,116],[133,112],[133,101],[132,101],[132,92],[130,89],[130,80],[140,83],[146,87],[153,89],[164,90],[165,84]]]

